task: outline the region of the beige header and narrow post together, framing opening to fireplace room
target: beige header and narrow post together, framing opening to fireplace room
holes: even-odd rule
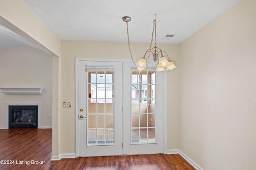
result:
[[[60,154],[60,39],[24,3],[0,1],[0,23],[52,55],[52,155]]]

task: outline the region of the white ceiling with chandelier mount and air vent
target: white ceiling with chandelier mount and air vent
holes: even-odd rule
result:
[[[240,0],[24,0],[61,40],[180,44]],[[162,39],[175,34],[172,39]],[[1,34],[0,34],[1,35]],[[0,43],[0,50],[2,49]]]

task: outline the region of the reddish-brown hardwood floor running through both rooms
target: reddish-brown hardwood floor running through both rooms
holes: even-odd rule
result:
[[[0,130],[0,170],[195,170],[179,154],[80,157],[50,161],[52,129]],[[6,163],[6,164],[2,164]]]

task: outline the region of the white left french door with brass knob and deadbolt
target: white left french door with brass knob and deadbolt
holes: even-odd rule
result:
[[[79,156],[122,154],[122,63],[79,62]]]

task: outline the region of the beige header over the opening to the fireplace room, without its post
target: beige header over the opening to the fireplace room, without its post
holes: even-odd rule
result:
[[[60,39],[23,0],[1,0],[0,23],[48,54],[60,57]]]

